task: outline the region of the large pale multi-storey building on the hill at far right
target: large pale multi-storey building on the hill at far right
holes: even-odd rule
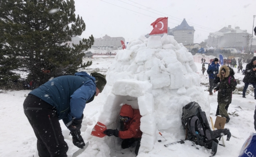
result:
[[[242,51],[247,43],[246,38],[243,36],[248,35],[250,33],[247,33],[247,30],[242,30],[238,26],[231,28],[231,25],[229,25],[217,32],[210,33],[207,39],[207,46],[215,48],[232,47]]]

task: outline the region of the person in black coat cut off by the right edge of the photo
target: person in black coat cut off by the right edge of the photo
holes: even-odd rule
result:
[[[251,84],[254,88],[254,99],[256,99],[256,57],[253,57],[251,62],[246,65],[243,82],[245,83],[243,88],[243,98],[246,98],[246,90],[249,84]]]

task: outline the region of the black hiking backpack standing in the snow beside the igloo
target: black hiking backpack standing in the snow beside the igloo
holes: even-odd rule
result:
[[[229,129],[214,130],[210,129],[205,112],[197,102],[190,102],[182,108],[182,125],[186,130],[185,140],[194,142],[197,145],[205,146],[212,149],[212,156],[217,153],[218,139],[223,135],[227,135],[227,141],[231,137]]]

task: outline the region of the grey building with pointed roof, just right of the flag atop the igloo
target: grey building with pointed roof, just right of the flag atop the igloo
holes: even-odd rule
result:
[[[180,25],[170,29],[168,27],[168,35],[173,35],[174,39],[178,43],[182,43],[183,45],[187,44],[193,44],[194,43],[194,32],[195,29],[193,26],[189,26],[186,19],[184,18]],[[163,37],[164,34],[160,34],[161,37]],[[156,36],[156,35],[145,35],[146,38],[150,36]]]

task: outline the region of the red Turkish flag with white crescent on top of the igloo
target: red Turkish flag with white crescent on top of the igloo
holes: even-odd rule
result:
[[[151,24],[153,30],[149,35],[168,33],[168,17],[160,17]]]

